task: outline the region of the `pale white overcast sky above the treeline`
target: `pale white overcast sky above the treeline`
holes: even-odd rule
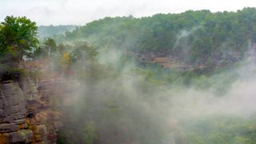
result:
[[[84,25],[106,16],[149,16],[207,9],[236,11],[256,7],[255,0],[0,0],[0,21],[6,15],[26,16],[38,25]]]

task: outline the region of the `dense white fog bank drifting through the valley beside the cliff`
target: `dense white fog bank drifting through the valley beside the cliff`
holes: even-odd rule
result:
[[[198,89],[197,82],[190,86],[154,82],[136,70],[134,59],[123,61],[124,57],[124,51],[106,50],[96,61],[108,70],[93,72],[103,76],[66,79],[78,82],[72,86],[74,94],[62,103],[66,112],[62,132],[71,134],[66,135],[67,142],[188,143],[190,134],[209,119],[222,122],[241,118],[243,122],[255,115],[254,58],[244,59],[228,73],[207,76],[214,84]],[[229,83],[223,85],[224,81]],[[224,92],[220,93],[218,86],[224,86]]]

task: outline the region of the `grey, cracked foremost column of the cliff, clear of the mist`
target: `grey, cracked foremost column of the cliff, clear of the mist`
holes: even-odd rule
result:
[[[26,125],[26,98],[18,82],[0,86],[0,143],[30,142],[32,130]]]

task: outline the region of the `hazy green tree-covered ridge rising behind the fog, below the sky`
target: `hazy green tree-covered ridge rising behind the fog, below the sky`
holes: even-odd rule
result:
[[[242,58],[256,42],[256,9],[210,10],[152,17],[103,18],[87,23],[58,41],[86,39],[96,47],[135,52],[161,51],[196,64]]]

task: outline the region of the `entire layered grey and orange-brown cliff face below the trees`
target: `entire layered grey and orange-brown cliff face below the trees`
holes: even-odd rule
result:
[[[56,143],[64,87],[61,78],[50,77],[1,82],[0,143]]]

